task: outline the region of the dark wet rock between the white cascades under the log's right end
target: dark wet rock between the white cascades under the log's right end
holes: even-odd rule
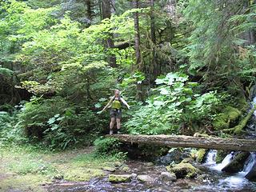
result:
[[[227,173],[238,173],[243,169],[243,166],[246,162],[246,159],[250,156],[250,152],[242,152],[238,155],[236,155],[233,160],[225,166],[222,171],[225,171]]]

